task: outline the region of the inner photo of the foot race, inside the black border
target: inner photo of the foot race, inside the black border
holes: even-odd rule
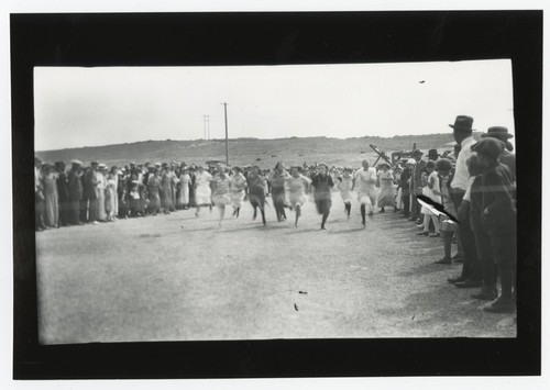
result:
[[[509,60],[36,67],[34,108],[44,344],[516,336]]]

